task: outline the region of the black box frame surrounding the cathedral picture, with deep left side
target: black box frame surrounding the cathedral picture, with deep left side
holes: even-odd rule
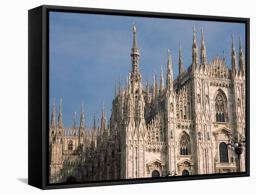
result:
[[[207,20],[244,23],[246,28],[246,171],[227,174],[121,179],[98,182],[48,182],[49,124],[49,11],[141,16],[185,20]],[[28,184],[40,189],[62,189],[90,186],[171,182],[249,176],[249,18],[205,16],[177,13],[155,13],[83,7],[43,5],[28,11]]]

